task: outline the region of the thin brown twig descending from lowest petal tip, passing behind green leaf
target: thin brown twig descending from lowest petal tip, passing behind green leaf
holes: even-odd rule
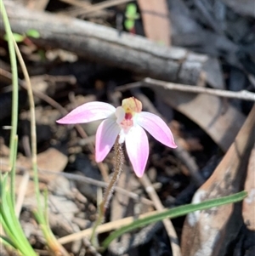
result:
[[[147,174],[144,174],[142,178],[139,179],[141,184],[144,186],[145,191],[150,196],[150,199],[154,202],[154,206],[158,212],[164,211],[165,208],[163,207],[159,196],[156,194],[156,191],[153,185],[150,182]],[[174,230],[173,224],[170,219],[163,219],[163,224],[167,230],[167,235],[169,237],[173,256],[181,256],[180,247],[178,245],[178,236]]]

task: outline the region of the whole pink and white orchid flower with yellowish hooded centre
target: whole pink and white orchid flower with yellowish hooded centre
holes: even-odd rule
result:
[[[99,125],[95,139],[95,159],[102,162],[111,151],[118,137],[125,142],[127,155],[134,173],[140,178],[149,156],[149,142],[144,129],[163,145],[176,148],[173,134],[167,124],[150,112],[142,111],[142,103],[131,97],[122,100],[122,106],[115,108],[105,102],[88,102],[78,106],[59,123],[82,123],[105,119]]]

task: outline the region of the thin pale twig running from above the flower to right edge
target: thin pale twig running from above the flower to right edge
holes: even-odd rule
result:
[[[188,84],[164,82],[161,80],[152,79],[150,77],[144,78],[144,80],[141,82],[133,82],[130,84],[120,86],[116,88],[116,90],[126,91],[127,89],[130,89],[130,88],[138,88],[142,86],[155,86],[155,85],[160,86],[162,88],[169,89],[169,90],[181,91],[184,93],[210,94],[210,95],[223,97],[223,98],[255,101],[255,94],[246,90],[242,90],[239,92],[232,92],[232,91],[213,89],[213,88],[203,88],[203,87],[198,87],[198,86],[188,85]]]

